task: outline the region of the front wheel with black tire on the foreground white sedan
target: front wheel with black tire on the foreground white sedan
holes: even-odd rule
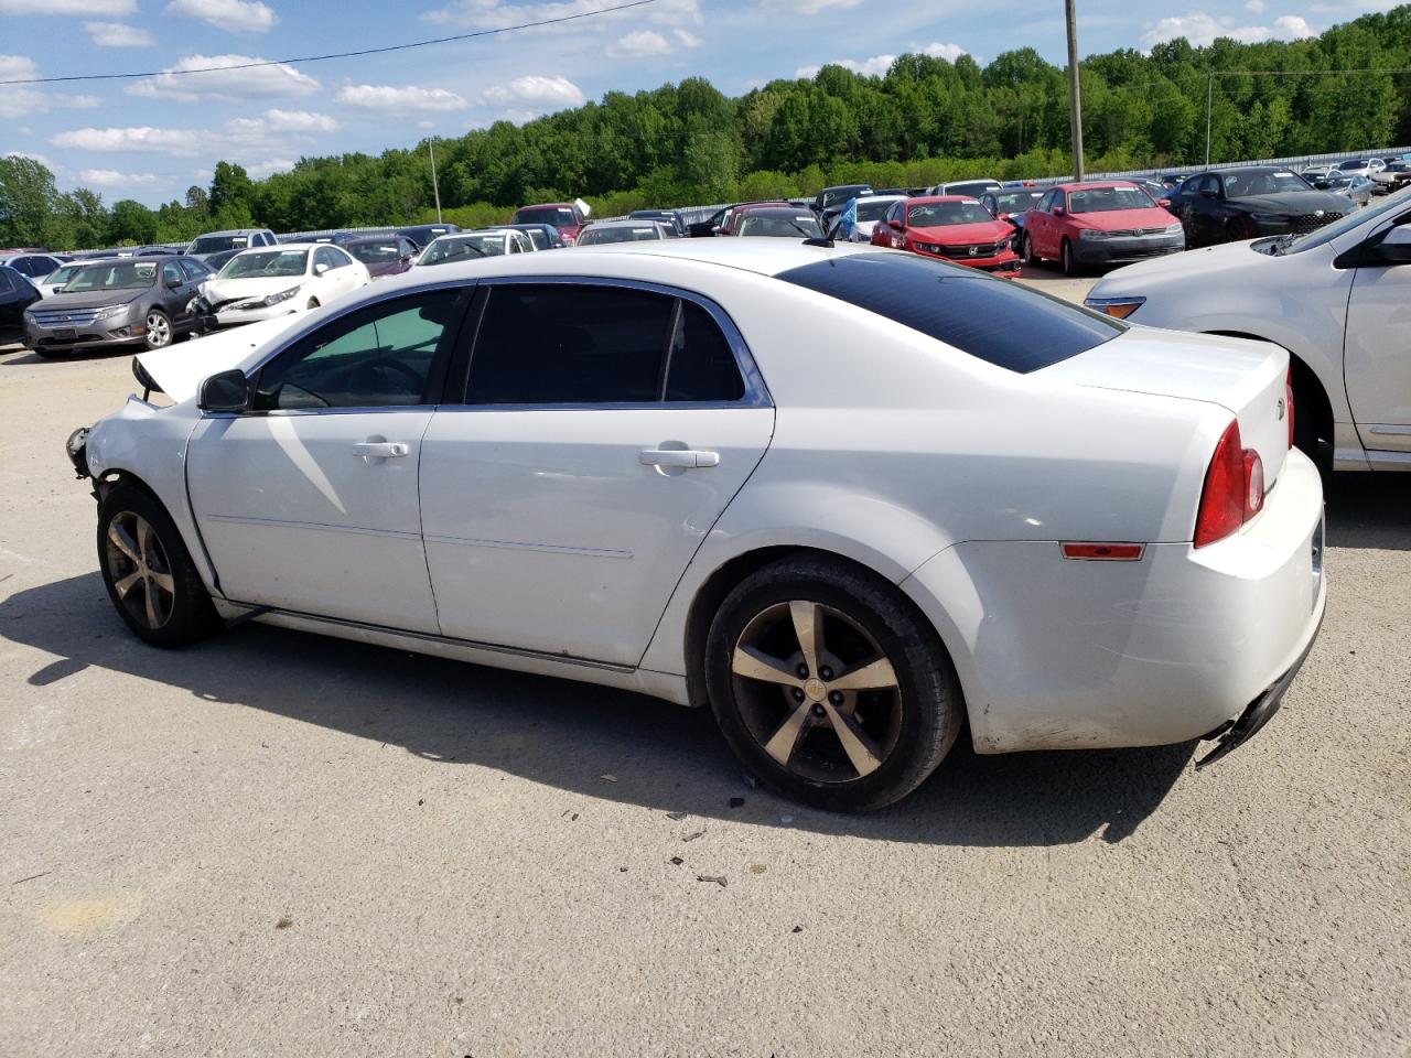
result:
[[[141,522],[151,530],[145,540]],[[138,553],[143,563],[131,557]],[[176,525],[145,490],[117,485],[99,504],[97,563],[113,608],[144,642],[185,646],[220,628]]]

